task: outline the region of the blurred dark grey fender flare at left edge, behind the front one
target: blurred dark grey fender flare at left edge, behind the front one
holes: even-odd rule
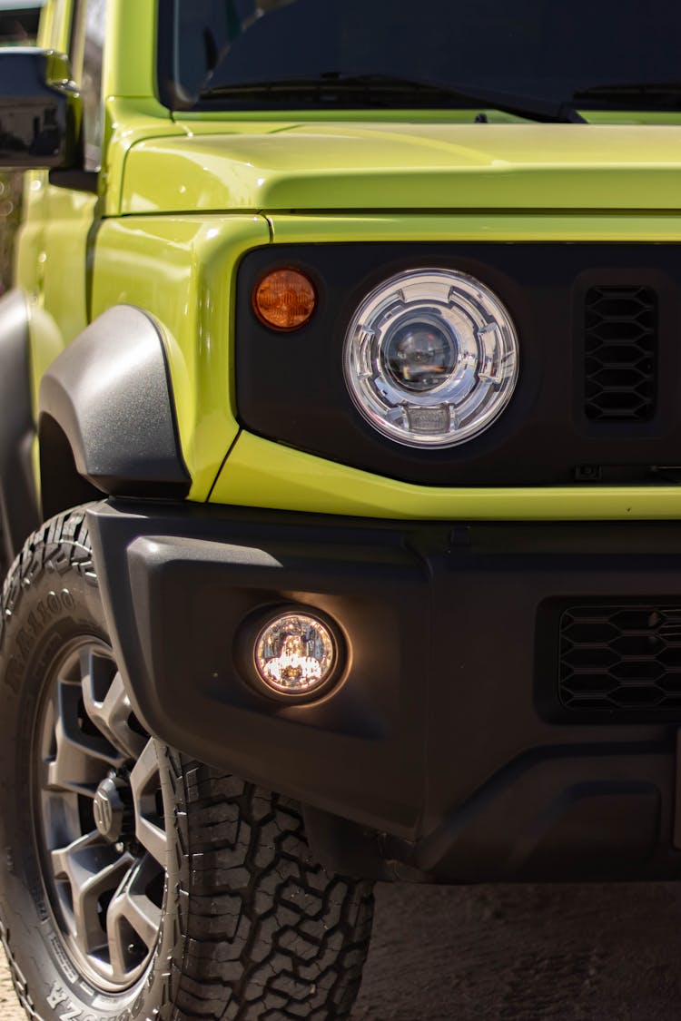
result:
[[[29,373],[29,306],[19,290],[0,298],[0,516],[7,561],[38,527],[31,466],[36,435]]]

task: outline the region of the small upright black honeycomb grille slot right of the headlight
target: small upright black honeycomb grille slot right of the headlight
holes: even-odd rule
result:
[[[586,415],[646,422],[655,411],[658,303],[648,287],[592,287],[586,295]]]

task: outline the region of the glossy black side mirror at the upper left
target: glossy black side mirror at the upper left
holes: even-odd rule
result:
[[[0,49],[0,167],[81,166],[82,119],[67,57],[35,47]]]

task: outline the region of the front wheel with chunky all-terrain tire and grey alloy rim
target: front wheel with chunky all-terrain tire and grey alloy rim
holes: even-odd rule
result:
[[[348,1018],[368,882],[326,873],[299,808],[135,719],[85,512],[32,536],[0,622],[0,936],[36,1021]]]

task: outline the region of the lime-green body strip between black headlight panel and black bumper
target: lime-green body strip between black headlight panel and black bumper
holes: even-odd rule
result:
[[[678,486],[445,489],[359,472],[242,433],[214,503],[430,521],[606,521],[681,518]]]

